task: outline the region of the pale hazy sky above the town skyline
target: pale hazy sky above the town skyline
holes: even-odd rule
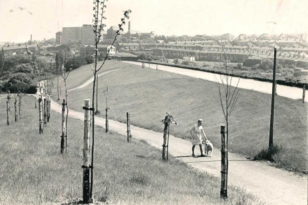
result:
[[[0,0],[0,41],[55,38],[62,27],[91,24],[92,7],[92,0]],[[108,0],[107,28],[127,9],[131,30],[157,35],[308,33],[308,0]]]

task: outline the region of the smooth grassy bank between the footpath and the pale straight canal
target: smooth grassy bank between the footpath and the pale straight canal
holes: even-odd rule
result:
[[[162,132],[159,121],[165,112],[170,112],[179,123],[171,126],[170,133],[187,139],[190,135],[186,131],[198,118],[203,118],[208,138],[215,147],[220,147],[220,125],[225,121],[215,82],[122,62],[108,61],[105,66],[105,70],[123,68],[104,75],[99,81],[99,109],[104,111],[103,89],[108,85],[110,118],[126,122],[126,112],[130,112],[132,124]],[[68,79],[70,86],[76,87],[78,81],[86,80],[85,75],[84,71],[74,70]],[[82,112],[83,100],[91,97],[91,89],[88,85],[69,92],[69,107]],[[270,107],[271,95],[239,90],[230,118],[229,151],[252,159],[267,147]],[[100,116],[104,117],[104,112]],[[307,103],[276,96],[274,142],[281,146],[280,152],[273,156],[277,167],[307,173],[307,134]]]

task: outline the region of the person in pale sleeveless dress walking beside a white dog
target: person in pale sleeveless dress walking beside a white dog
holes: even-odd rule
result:
[[[192,127],[192,129],[189,131],[190,135],[191,135],[191,144],[192,144],[191,150],[192,150],[192,155],[193,156],[195,156],[194,150],[195,150],[195,146],[196,145],[199,145],[199,147],[200,147],[200,152],[201,152],[200,156],[205,156],[203,154],[203,151],[202,151],[202,138],[205,137],[206,140],[208,140],[208,138],[206,137],[206,135],[204,133],[204,130],[203,130],[203,127],[202,127],[202,123],[203,123],[203,120],[199,119],[198,120],[198,124],[194,125]]]

